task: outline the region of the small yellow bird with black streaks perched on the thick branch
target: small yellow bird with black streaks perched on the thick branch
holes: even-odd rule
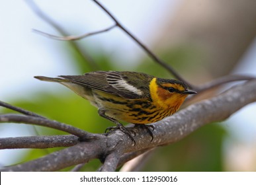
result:
[[[153,133],[144,124],[174,114],[189,94],[196,94],[181,81],[132,71],[93,71],[84,75],[35,78],[65,85],[89,100],[98,108],[100,116],[116,124],[106,131],[120,129],[134,141],[134,145],[136,142],[130,131],[119,121],[147,128],[153,140]]]

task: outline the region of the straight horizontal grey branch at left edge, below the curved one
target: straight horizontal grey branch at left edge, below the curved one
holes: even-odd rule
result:
[[[44,135],[0,138],[0,149],[46,149],[70,147],[79,143],[75,135]]]

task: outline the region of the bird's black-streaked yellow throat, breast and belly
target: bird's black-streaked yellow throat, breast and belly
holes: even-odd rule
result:
[[[157,85],[153,78],[149,84],[151,98],[128,99],[107,92],[93,90],[98,108],[110,118],[132,124],[150,124],[174,114],[185,96],[171,93]]]

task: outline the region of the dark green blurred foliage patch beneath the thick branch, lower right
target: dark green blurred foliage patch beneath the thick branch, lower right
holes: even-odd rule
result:
[[[222,141],[226,131],[209,124],[177,143],[159,147],[144,171],[222,171]]]

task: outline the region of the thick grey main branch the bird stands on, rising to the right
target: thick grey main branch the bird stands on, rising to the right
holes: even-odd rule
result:
[[[226,120],[243,106],[256,101],[256,80],[248,81],[232,87],[226,92],[209,100],[203,100],[180,110],[160,122],[153,124],[154,139],[143,128],[128,128],[134,131],[136,145],[120,130],[114,130],[99,139],[80,142],[77,145],[51,153],[40,159],[29,161],[17,166],[2,168],[3,171],[53,171],[67,166],[86,163],[91,159],[112,159],[118,151],[119,156],[126,153],[147,150],[159,145],[177,142],[196,129],[212,123]],[[117,153],[116,153],[117,152]],[[114,153],[113,156],[108,155]],[[116,166],[116,161],[114,161]],[[43,164],[43,165],[42,165]],[[104,168],[103,168],[104,169]],[[113,168],[107,168],[113,170]]]

